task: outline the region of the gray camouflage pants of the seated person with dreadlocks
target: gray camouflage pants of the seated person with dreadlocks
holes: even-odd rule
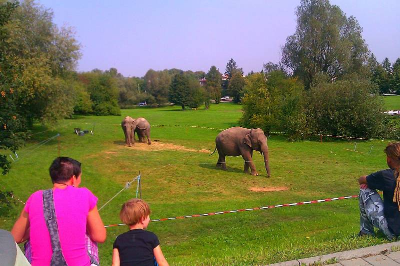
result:
[[[373,227],[380,229],[387,239],[391,240],[395,236],[387,227],[386,218],[383,215],[383,201],[374,189],[359,190],[359,228],[360,232],[374,236]]]

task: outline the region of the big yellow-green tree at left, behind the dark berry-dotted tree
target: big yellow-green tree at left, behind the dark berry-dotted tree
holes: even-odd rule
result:
[[[22,85],[15,88],[18,112],[32,125],[34,120],[54,123],[73,112],[75,91],[65,80],[80,57],[73,31],[58,28],[52,11],[25,0],[5,25],[9,31],[7,53],[19,66]]]

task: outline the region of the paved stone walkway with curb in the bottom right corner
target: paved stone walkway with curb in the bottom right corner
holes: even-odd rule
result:
[[[326,265],[326,262],[336,260],[329,266],[400,266],[400,241],[351,251],[337,252],[323,256],[298,259],[269,266],[313,266]]]

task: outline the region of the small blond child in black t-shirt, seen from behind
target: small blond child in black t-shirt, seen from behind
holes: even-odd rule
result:
[[[150,208],[141,199],[122,205],[119,218],[129,231],[116,237],[112,247],[112,266],[168,266],[154,233],[145,231],[150,222]]]

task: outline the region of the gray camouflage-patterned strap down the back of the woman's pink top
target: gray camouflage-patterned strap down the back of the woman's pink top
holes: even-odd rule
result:
[[[64,256],[62,255],[61,244],[59,242],[57,217],[55,216],[53,190],[43,190],[43,215],[50,234],[51,249],[51,266],[67,266]]]

